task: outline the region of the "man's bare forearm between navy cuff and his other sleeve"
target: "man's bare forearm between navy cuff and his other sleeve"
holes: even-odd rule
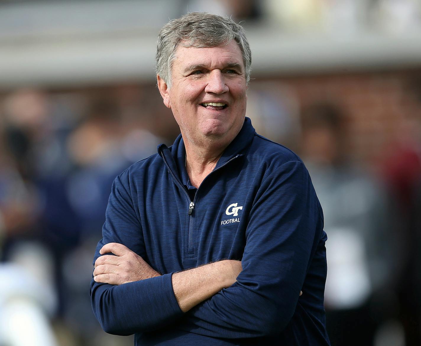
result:
[[[236,281],[241,262],[224,260],[173,274],[172,283],[177,303],[189,311]]]

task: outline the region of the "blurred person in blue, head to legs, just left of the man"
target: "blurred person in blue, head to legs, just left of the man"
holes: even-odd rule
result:
[[[87,249],[96,244],[104,223],[112,181],[131,163],[122,155],[122,136],[120,109],[115,99],[93,96],[84,116],[66,138],[73,167],[59,189],[61,197],[57,197],[72,210],[74,220],[67,222],[73,225],[75,238],[73,245],[57,256],[64,294],[63,318],[81,345],[91,344],[91,339],[100,331],[86,295],[86,276],[91,273],[90,261],[86,261]]]

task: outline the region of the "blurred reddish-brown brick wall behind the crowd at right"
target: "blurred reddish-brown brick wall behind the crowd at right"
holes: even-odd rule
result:
[[[346,115],[352,158],[373,165],[389,146],[421,144],[421,69],[301,77],[282,77],[300,108],[332,101]]]

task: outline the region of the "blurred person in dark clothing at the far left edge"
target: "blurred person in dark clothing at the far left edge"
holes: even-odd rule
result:
[[[0,130],[0,217],[5,238],[3,250],[11,239],[36,233],[40,216],[39,195],[33,182],[30,162],[32,138],[43,128],[45,96],[37,90],[18,90],[5,97]],[[4,256],[4,252],[3,252]]]

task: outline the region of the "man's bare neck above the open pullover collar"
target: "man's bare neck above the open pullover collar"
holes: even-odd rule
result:
[[[190,183],[196,188],[215,168],[219,158],[225,150],[224,148],[197,148],[184,141],[186,147],[186,170],[190,178]]]

